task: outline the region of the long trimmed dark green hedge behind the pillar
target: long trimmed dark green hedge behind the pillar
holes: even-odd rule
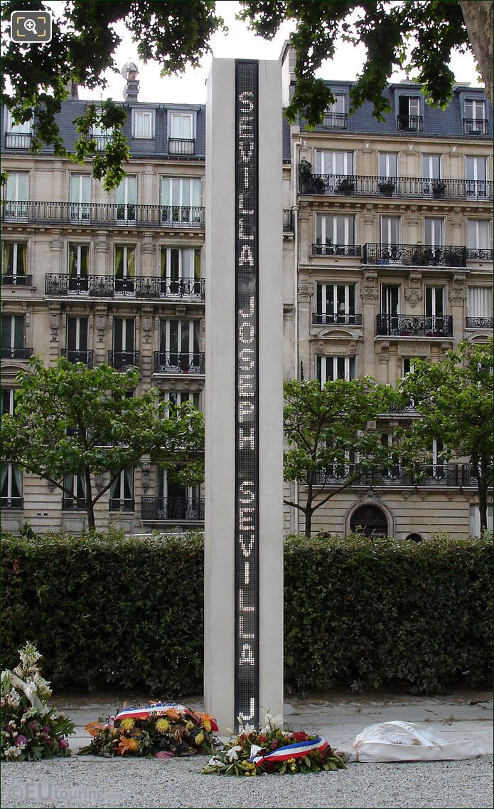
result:
[[[203,538],[3,538],[3,663],[26,640],[52,684],[203,686]],[[285,678],[299,691],[433,692],[491,669],[492,541],[285,542]],[[218,661],[221,665],[221,661]],[[468,672],[467,675],[465,672]]]

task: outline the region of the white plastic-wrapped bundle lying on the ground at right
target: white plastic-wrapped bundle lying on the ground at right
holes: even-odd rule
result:
[[[412,722],[381,722],[366,727],[355,737],[348,758],[353,761],[441,761],[482,756],[473,739],[451,742],[433,726]]]

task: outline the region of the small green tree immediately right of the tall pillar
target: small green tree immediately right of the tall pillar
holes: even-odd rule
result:
[[[303,483],[306,497],[283,502],[304,514],[305,534],[311,536],[317,509],[342,489],[366,481],[370,472],[379,479],[393,462],[391,447],[369,422],[389,411],[396,392],[370,377],[335,379],[322,388],[316,379],[290,379],[284,399],[283,477]]]

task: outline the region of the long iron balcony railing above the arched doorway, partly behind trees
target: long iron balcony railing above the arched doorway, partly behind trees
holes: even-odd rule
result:
[[[410,472],[399,465],[383,469],[364,469],[358,464],[345,464],[316,473],[316,485],[341,485],[357,476],[354,486],[476,486],[477,478],[470,464],[419,464]]]

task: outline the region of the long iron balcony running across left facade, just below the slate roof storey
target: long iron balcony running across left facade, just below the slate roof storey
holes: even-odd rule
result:
[[[2,205],[2,222],[107,227],[204,227],[204,208],[180,205],[110,205],[90,202],[15,202]]]

